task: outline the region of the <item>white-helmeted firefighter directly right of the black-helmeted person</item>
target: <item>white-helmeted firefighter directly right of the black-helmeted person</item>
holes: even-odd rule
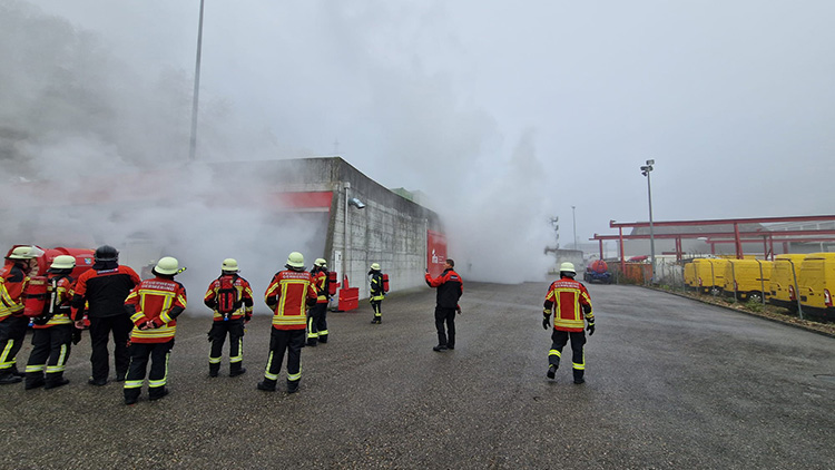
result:
[[[154,267],[154,278],[143,281],[125,300],[125,311],[134,323],[130,333],[130,368],[125,379],[125,404],[139,399],[150,358],[148,400],[168,394],[168,358],[174,347],[177,316],[186,310],[186,288],[174,276],[186,271],[165,256]]]

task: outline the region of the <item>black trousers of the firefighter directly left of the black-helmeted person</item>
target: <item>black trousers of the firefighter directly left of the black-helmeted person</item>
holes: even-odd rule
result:
[[[47,381],[58,381],[63,376],[72,346],[72,329],[71,324],[33,329],[32,352],[26,364],[27,382],[43,379],[45,372]]]

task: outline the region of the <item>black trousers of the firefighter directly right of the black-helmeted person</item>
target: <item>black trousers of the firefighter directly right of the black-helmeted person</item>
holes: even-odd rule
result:
[[[128,349],[130,352],[130,369],[125,378],[125,398],[136,399],[143,391],[145,374],[148,370],[150,359],[150,373],[148,374],[149,398],[160,398],[164,394],[165,384],[168,381],[168,358],[174,347],[174,340],[165,343],[132,343]]]

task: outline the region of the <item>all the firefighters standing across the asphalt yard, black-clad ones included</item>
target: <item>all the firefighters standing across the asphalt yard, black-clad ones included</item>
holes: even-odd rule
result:
[[[52,260],[42,310],[32,315],[23,313],[29,274],[39,255],[33,246],[18,246],[7,256],[0,275],[0,384],[24,381],[27,390],[53,389],[69,383],[63,376],[72,344],[80,341],[80,332],[89,321],[91,340],[91,385],[105,385],[109,375],[108,340],[115,343],[116,380],[124,382],[126,404],[134,404],[144,386],[148,363],[148,399],[158,400],[166,389],[168,359],[177,327],[177,317],[186,309],[186,290],[175,276],[185,267],[174,257],[163,257],[151,270],[154,277],[141,280],[128,266],[118,264],[116,248],[105,245],[96,249],[91,270],[78,280],[71,277],[76,258],[59,255]],[[42,252],[40,253],[42,254]],[[433,278],[426,273],[426,284],[438,287],[435,326],[439,345],[434,351],[454,349],[454,317],[461,313],[458,300],[463,284],[448,260],[444,273]],[[331,277],[323,258],[305,270],[304,256],[293,252],[285,268],[273,276],[265,294],[265,303],[273,311],[269,355],[264,379],[257,389],[275,391],[278,374],[287,353],[287,392],[298,391],[301,381],[301,350],[305,345],[327,343],[326,312],[332,295]],[[220,276],[214,280],[204,295],[212,309],[213,325],[208,332],[209,376],[218,376],[226,336],[229,337],[229,375],[246,372],[243,368],[245,325],[252,320],[254,296],[252,286],[239,274],[237,261],[223,261]],[[583,344],[595,332],[595,316],[586,287],[573,280],[571,263],[560,267],[560,280],[547,293],[542,325],[550,327],[554,313],[552,345],[549,351],[547,376],[553,379],[560,364],[563,346],[571,341],[574,383],[582,383],[586,369]],[[387,291],[387,276],[374,263],[369,272],[370,302],[374,311],[373,324],[382,322],[381,304]],[[17,368],[17,353],[33,323],[32,350],[26,370]],[[588,326],[586,326],[586,322]],[[448,332],[444,331],[444,324]],[[306,334],[305,334],[306,332]],[[449,335],[446,334],[449,333]],[[24,380],[23,380],[24,379]]]

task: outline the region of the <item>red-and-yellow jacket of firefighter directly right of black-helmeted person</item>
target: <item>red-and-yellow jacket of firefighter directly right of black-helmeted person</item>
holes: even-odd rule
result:
[[[134,322],[132,343],[165,343],[174,340],[177,316],[186,310],[186,287],[157,275],[137,285],[125,300],[125,310]],[[141,330],[148,322],[153,329]]]

